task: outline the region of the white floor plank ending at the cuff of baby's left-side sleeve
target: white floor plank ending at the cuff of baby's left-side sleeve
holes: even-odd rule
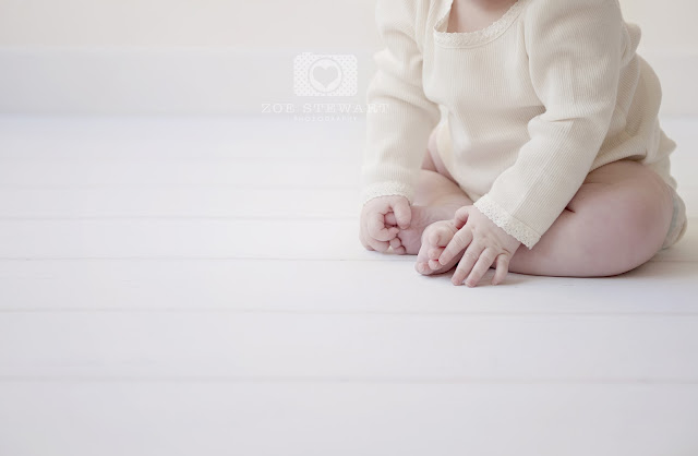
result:
[[[353,188],[93,187],[0,188],[7,218],[347,218],[359,215]]]

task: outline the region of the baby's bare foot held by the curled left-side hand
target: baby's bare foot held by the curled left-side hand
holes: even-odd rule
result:
[[[458,207],[412,206],[410,227],[408,229],[401,229],[397,236],[390,240],[393,251],[400,255],[406,253],[408,255],[416,255],[422,245],[422,233],[424,232],[424,228],[432,225],[434,221],[453,218]],[[393,213],[385,215],[385,221],[387,228],[397,226],[395,214]]]

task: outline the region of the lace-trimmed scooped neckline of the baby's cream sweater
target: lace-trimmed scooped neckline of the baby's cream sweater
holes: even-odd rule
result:
[[[434,24],[434,43],[444,47],[465,48],[484,45],[497,38],[514,23],[528,0],[518,0],[495,22],[474,32],[446,32],[454,0],[447,1],[445,15]]]

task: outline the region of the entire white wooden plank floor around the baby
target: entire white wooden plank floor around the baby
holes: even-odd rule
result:
[[[698,455],[689,213],[625,275],[364,250],[364,124],[0,118],[0,455]]]

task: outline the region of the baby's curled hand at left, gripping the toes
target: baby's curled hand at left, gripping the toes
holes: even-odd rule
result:
[[[386,225],[385,215],[389,213],[395,214],[399,229]],[[411,218],[412,209],[407,197],[402,195],[374,197],[369,200],[361,209],[359,239],[366,250],[386,252],[390,247],[390,240],[395,239],[400,229],[409,228]]]

